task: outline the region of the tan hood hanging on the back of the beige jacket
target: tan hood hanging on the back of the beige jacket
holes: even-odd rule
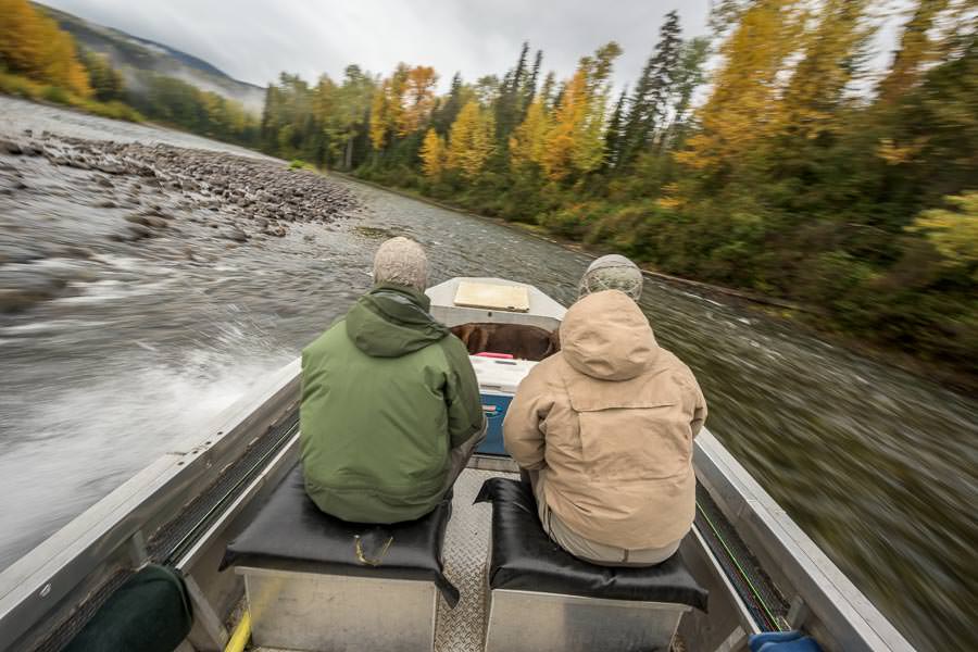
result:
[[[564,360],[600,380],[628,380],[659,356],[652,327],[638,304],[618,290],[588,294],[561,324]]]

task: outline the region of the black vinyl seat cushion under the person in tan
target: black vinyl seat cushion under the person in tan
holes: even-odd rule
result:
[[[690,575],[679,553],[648,567],[589,564],[543,531],[529,485],[490,478],[476,502],[492,503],[491,589],[668,602],[706,611],[707,591]]]

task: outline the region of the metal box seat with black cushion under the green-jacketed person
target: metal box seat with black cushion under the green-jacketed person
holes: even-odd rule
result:
[[[255,643],[299,650],[431,649],[451,503],[405,523],[348,523],[306,496],[301,465],[230,543],[221,568],[244,576]]]

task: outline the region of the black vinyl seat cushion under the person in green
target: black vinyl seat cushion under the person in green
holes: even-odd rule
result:
[[[306,496],[302,467],[296,465],[258,516],[227,544],[221,569],[228,566],[291,568],[327,575],[427,580],[449,606],[459,589],[442,567],[444,530],[451,502],[417,521],[393,525],[348,523],[324,514]]]

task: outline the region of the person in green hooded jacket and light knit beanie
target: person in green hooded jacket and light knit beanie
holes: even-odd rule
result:
[[[468,352],[428,313],[427,267],[417,242],[384,242],[374,287],[302,351],[305,490],[342,521],[424,516],[485,437]]]

